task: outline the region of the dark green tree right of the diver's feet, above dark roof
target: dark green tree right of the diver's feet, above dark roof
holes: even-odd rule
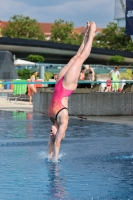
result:
[[[130,36],[125,34],[125,28],[117,28],[116,23],[110,22],[102,33],[94,38],[93,47],[133,51],[133,42]]]

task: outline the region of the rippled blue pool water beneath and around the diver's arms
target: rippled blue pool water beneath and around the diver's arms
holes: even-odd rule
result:
[[[133,126],[71,119],[61,162],[46,116],[0,111],[0,200],[132,200]]]

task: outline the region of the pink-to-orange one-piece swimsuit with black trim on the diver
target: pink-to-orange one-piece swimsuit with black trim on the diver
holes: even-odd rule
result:
[[[57,120],[57,115],[59,114],[59,112],[63,109],[67,109],[61,103],[62,98],[69,97],[73,93],[72,90],[67,90],[63,87],[63,79],[64,77],[62,77],[55,85],[54,92],[52,94],[52,98],[48,108],[48,116],[53,123],[55,122],[55,120]]]

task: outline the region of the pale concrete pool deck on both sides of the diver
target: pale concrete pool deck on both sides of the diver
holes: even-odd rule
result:
[[[25,101],[17,101],[17,102],[11,101],[10,103],[9,101],[6,100],[6,97],[0,97],[0,110],[33,112],[33,106],[30,105],[29,102]],[[85,116],[82,118],[70,116],[70,118],[133,126],[133,116],[87,116],[87,117]]]

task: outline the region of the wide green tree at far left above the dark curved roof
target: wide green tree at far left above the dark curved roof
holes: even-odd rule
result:
[[[12,38],[45,39],[41,26],[37,21],[23,15],[11,17],[8,24],[2,30],[2,34]]]

